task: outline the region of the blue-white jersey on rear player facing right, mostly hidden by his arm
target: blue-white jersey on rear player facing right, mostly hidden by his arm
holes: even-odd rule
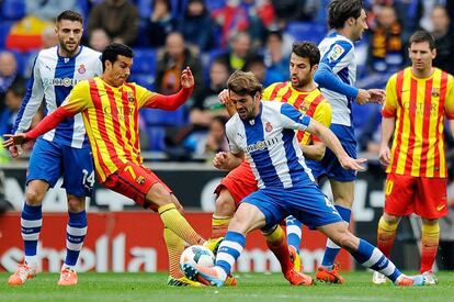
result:
[[[343,35],[337,32],[328,34],[318,45],[320,49],[320,64],[326,64],[341,81],[354,86],[356,80],[356,60],[354,58],[354,45]],[[321,88],[321,93],[331,104],[331,124],[352,125],[351,103],[352,98]]]

